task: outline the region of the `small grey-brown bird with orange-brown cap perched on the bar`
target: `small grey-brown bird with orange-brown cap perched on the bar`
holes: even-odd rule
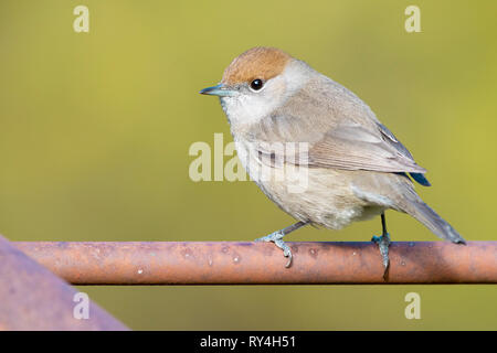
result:
[[[253,47],[233,60],[219,85],[200,93],[220,98],[248,175],[298,221],[256,239],[279,247],[286,267],[292,264],[283,240],[288,233],[308,224],[340,229],[381,215],[382,235],[371,240],[379,246],[385,276],[387,210],[465,244],[414,191],[412,180],[430,186],[426,170],[367,104],[305,62],[275,47]]]

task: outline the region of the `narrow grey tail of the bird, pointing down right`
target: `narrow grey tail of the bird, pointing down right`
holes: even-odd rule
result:
[[[409,197],[410,202],[404,212],[423,223],[430,231],[440,236],[442,239],[453,243],[466,244],[461,234],[443,220],[432,207],[423,202],[416,194]]]

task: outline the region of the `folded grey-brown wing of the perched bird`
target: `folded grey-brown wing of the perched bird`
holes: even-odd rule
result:
[[[353,93],[329,78],[320,82],[308,84],[251,129],[253,141],[265,142],[257,148],[260,153],[283,153],[287,162],[320,168],[426,172]],[[308,153],[302,148],[300,152],[298,148],[297,152],[293,148],[289,152],[282,152],[281,147],[272,149],[275,142],[306,142]]]

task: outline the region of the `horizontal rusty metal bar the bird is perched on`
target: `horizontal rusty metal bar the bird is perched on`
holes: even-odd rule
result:
[[[383,279],[372,243],[14,243],[74,285],[496,284],[497,242],[392,243]]]

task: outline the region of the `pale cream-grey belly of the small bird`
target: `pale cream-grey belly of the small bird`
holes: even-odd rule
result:
[[[359,199],[351,185],[353,172],[296,167],[264,165],[246,150],[239,157],[251,179],[283,211],[298,221],[340,229],[351,222],[381,214],[385,207]]]

